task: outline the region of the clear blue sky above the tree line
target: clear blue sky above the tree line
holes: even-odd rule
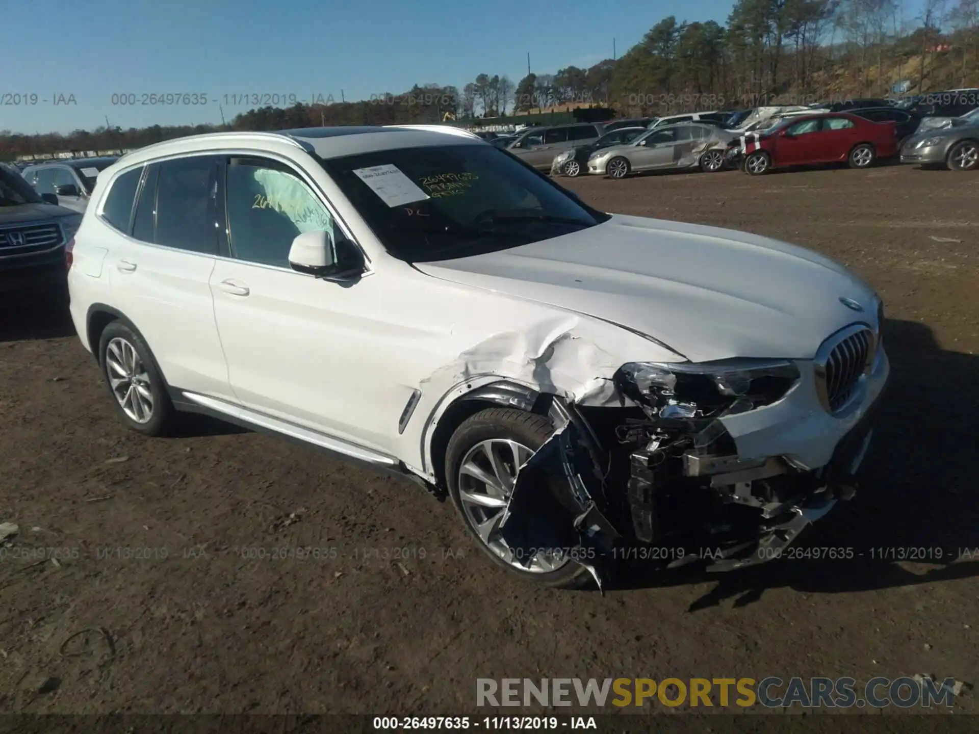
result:
[[[0,130],[220,122],[224,95],[347,100],[414,83],[460,88],[480,72],[517,81],[619,55],[653,24],[723,23],[725,0],[0,0]],[[915,5],[919,0],[907,0]],[[913,16],[913,13],[908,13]],[[209,104],[113,104],[197,93]],[[16,104],[37,95],[37,104]],[[54,104],[56,100],[75,104]],[[230,119],[248,105],[224,105]]]

